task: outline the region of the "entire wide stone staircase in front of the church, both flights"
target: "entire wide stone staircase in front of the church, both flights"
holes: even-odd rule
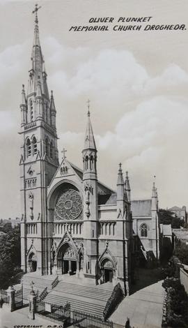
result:
[[[111,295],[114,290],[112,283],[94,285],[94,281],[89,278],[77,278],[75,276],[63,275],[61,280],[55,280],[56,276],[38,276],[36,274],[25,274],[22,278],[24,303],[28,303],[31,292],[31,282],[33,290],[38,296],[44,294],[42,300],[49,304],[65,306],[70,303],[71,311],[84,312],[104,318],[106,306],[111,303]],[[108,302],[108,303],[107,303]],[[112,308],[112,311],[114,311]],[[105,311],[104,311],[105,310]],[[105,319],[109,315],[105,315]]]

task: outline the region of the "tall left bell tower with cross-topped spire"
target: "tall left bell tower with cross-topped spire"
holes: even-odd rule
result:
[[[27,94],[22,87],[20,190],[22,201],[22,269],[46,274],[49,267],[47,186],[58,167],[56,108],[49,97],[47,73],[40,47],[38,5]]]

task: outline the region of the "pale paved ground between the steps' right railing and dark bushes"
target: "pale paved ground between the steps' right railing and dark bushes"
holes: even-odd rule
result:
[[[128,317],[131,327],[159,328],[162,326],[163,300],[164,289],[159,281],[125,297],[109,320],[125,327]]]

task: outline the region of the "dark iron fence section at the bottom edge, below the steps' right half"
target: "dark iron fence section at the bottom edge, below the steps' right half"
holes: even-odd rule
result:
[[[79,328],[113,328],[112,321],[104,321],[95,315],[88,313],[73,311],[72,312],[73,327]]]

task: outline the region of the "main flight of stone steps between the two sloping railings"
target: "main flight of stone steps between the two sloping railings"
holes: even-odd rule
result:
[[[73,283],[73,279],[72,283],[62,280],[44,301],[62,306],[70,302],[71,311],[81,311],[103,318],[104,308],[112,291],[111,283],[95,286]]]

